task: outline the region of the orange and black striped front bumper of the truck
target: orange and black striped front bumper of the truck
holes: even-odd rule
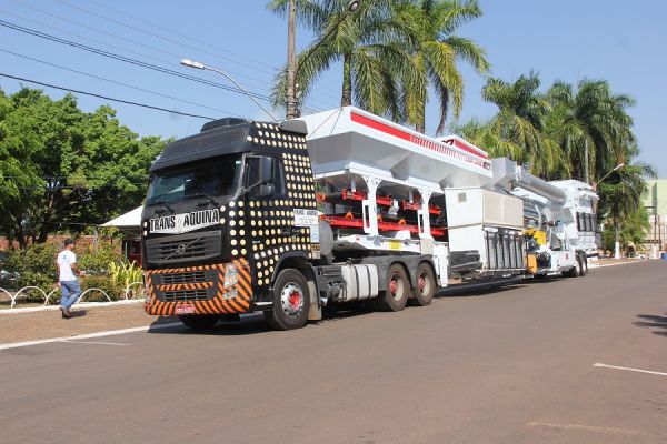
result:
[[[146,313],[169,316],[176,314],[232,314],[251,311],[252,281],[248,261],[239,259],[232,262],[238,269],[238,282],[228,289],[225,289],[226,264],[223,263],[145,271]],[[185,294],[193,294],[193,292],[207,294],[207,296],[200,300],[185,296]],[[167,294],[173,296],[167,300]]]

